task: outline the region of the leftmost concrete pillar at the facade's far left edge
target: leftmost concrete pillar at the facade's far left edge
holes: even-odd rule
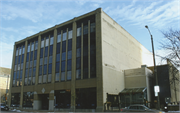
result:
[[[11,78],[10,78],[9,97],[8,97],[8,106],[11,105],[11,89],[12,89],[12,82],[13,82],[13,76],[14,76],[15,57],[16,57],[16,45],[14,45],[13,58],[12,58],[11,76],[10,76]]]

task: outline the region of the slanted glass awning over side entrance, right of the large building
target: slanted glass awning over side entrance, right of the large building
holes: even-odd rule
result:
[[[146,90],[147,88],[130,88],[130,89],[124,89],[120,92],[120,94],[124,93],[142,93]]]

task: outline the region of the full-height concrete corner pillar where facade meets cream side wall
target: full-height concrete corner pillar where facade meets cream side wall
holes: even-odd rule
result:
[[[96,78],[97,78],[97,112],[104,110],[103,105],[103,73],[102,73],[102,29],[101,29],[102,9],[96,10]]]

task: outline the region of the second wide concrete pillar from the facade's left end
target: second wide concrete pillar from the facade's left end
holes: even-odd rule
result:
[[[23,88],[24,88],[24,78],[25,78],[25,70],[26,70],[26,56],[27,56],[27,46],[28,41],[25,41],[25,51],[24,51],[24,61],[23,61],[23,74],[22,74],[22,86],[21,86],[21,94],[20,94],[20,108],[23,105]]]

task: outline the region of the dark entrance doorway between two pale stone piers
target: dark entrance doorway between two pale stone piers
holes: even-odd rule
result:
[[[42,109],[49,110],[49,94],[41,94]]]

